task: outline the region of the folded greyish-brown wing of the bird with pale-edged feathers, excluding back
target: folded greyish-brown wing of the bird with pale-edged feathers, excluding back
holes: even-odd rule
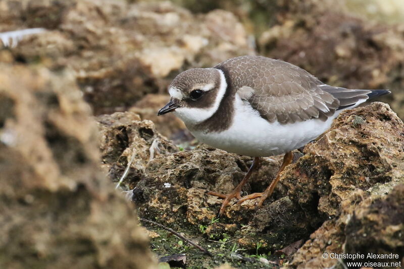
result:
[[[312,118],[326,120],[339,106],[338,99],[319,87],[322,85],[319,80],[297,66],[273,60],[266,69],[268,71],[265,74],[271,79],[267,80],[265,86],[262,84],[263,79],[261,83],[255,83],[256,88],[249,102],[268,121],[288,123]]]

